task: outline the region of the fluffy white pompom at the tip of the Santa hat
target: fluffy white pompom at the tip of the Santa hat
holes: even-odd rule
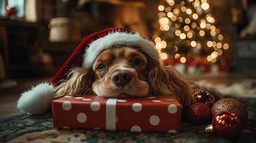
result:
[[[29,91],[23,92],[17,102],[17,108],[24,113],[42,114],[51,107],[54,99],[54,86],[49,83],[39,83]]]

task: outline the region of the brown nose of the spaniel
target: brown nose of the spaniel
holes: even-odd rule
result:
[[[132,74],[128,71],[115,71],[112,74],[111,80],[117,86],[125,86],[127,85],[132,79]]]

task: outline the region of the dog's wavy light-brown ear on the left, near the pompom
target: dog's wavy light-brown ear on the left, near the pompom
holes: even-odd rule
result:
[[[92,70],[75,67],[70,70],[67,80],[61,81],[61,84],[55,88],[55,97],[60,98],[65,95],[75,96],[85,94],[91,90]]]

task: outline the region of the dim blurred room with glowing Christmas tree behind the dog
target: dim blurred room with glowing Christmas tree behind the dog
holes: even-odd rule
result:
[[[18,98],[51,80],[85,36],[109,27],[140,32],[188,79],[255,78],[255,11],[254,0],[0,0],[0,89],[18,87]]]

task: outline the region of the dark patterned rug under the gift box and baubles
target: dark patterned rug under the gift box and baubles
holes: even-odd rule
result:
[[[236,140],[205,133],[205,126],[186,121],[181,121],[180,133],[55,129],[49,111],[39,116],[18,114],[1,119],[0,142],[256,142],[256,98],[237,100],[246,105],[249,119]]]

